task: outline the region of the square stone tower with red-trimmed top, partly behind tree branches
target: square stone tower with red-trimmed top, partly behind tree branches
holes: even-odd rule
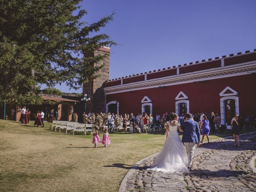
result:
[[[110,54],[110,47],[102,47],[96,50],[93,56],[100,54]],[[109,57],[95,63],[94,66],[104,65],[102,69],[98,71],[100,76],[94,80],[89,81],[83,85],[83,95],[87,94],[90,96],[91,100],[86,103],[86,112],[105,112],[106,110],[106,96],[104,93],[104,87],[106,86],[106,81],[109,79]]]

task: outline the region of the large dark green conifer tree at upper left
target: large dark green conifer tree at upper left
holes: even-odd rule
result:
[[[92,52],[115,45],[100,29],[114,13],[87,24],[82,0],[2,0],[0,4],[0,102],[34,104],[40,84],[78,89],[97,77],[93,63],[108,54]],[[76,12],[77,14],[74,14]],[[85,58],[86,56],[86,58]]]

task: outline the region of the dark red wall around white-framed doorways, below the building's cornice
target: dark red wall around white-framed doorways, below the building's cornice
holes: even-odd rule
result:
[[[175,112],[175,97],[183,91],[189,100],[190,112],[207,111],[220,112],[220,92],[227,86],[238,91],[239,109],[244,115],[256,114],[256,76],[248,74],[204,83],[192,82],[166,86],[164,88],[149,88],[106,95],[106,103],[114,100],[119,102],[120,114],[141,113],[141,100],[148,96],[152,100],[153,114],[158,112]],[[250,85],[250,86],[249,86]]]

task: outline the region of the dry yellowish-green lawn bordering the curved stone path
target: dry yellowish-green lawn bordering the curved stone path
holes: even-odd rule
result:
[[[118,191],[128,170],[164,144],[163,133],[120,133],[110,134],[107,148],[92,148],[92,135],[52,132],[49,125],[0,120],[1,192]]]

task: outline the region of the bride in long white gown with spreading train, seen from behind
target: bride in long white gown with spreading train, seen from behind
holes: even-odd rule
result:
[[[170,118],[166,126],[167,138],[164,147],[148,170],[182,174],[189,172],[188,158],[178,134],[178,129],[181,130],[178,115],[171,113]]]

